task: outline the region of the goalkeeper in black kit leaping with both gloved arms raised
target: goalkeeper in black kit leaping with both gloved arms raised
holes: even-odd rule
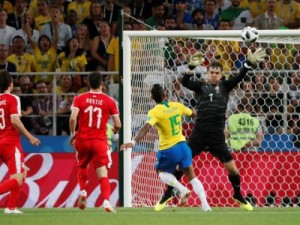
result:
[[[248,70],[252,66],[264,60],[266,52],[257,49],[254,53],[248,49],[247,61],[240,69],[239,74],[229,80],[222,80],[222,65],[213,61],[208,66],[207,81],[192,81],[190,77],[194,75],[194,68],[204,62],[204,54],[198,52],[193,55],[189,62],[189,69],[183,74],[182,85],[198,95],[197,118],[188,140],[188,145],[192,149],[193,156],[202,151],[209,151],[217,157],[225,169],[228,171],[228,179],[233,187],[233,199],[240,206],[248,211],[253,207],[247,202],[240,190],[240,174],[232,158],[230,151],[225,143],[225,111],[227,108],[229,92],[243,80]],[[182,172],[176,171],[175,177],[179,180]],[[157,205],[163,208],[166,202],[172,199],[173,187],[168,186],[161,200]]]

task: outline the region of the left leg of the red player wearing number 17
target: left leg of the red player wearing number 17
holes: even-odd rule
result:
[[[78,207],[79,209],[86,208],[87,191],[86,184],[88,182],[88,169],[87,166],[91,160],[91,142],[90,141],[77,141],[75,142],[76,159],[77,159],[77,181],[80,188]]]

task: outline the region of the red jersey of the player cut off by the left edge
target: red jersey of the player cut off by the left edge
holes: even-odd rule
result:
[[[20,142],[20,134],[11,123],[11,116],[21,116],[20,98],[12,94],[0,94],[0,142]]]

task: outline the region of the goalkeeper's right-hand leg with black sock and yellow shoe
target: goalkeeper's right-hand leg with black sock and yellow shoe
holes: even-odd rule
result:
[[[240,174],[227,145],[225,143],[215,143],[210,146],[210,152],[223,163],[225,169],[228,171],[228,179],[234,190],[233,199],[238,202],[243,209],[248,211],[253,210],[251,204],[244,199],[241,193]]]

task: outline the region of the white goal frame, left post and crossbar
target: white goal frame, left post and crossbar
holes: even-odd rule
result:
[[[300,37],[300,30],[258,30],[259,38],[267,37]],[[131,136],[131,39],[136,37],[142,38],[168,38],[168,37],[187,37],[187,38],[238,38],[240,41],[240,30],[213,30],[213,31],[192,31],[192,30],[180,30],[180,31],[123,31],[123,140],[129,142],[132,139]],[[124,207],[132,207],[132,162],[131,162],[131,149],[124,152],[124,164],[123,164],[123,194],[124,194]]]

